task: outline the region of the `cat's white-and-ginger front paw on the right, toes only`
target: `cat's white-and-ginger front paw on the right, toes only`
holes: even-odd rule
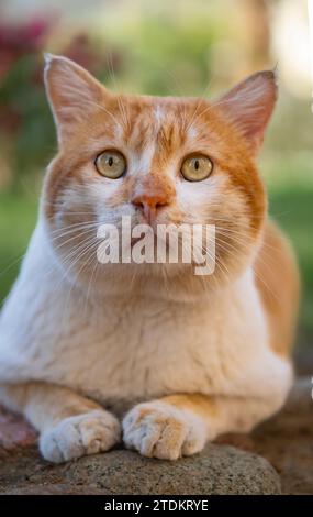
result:
[[[201,418],[158,400],[131,409],[123,420],[123,431],[127,448],[160,460],[192,455],[203,449],[206,440]]]

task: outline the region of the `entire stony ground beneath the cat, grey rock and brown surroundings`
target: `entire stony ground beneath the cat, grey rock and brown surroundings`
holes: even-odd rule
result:
[[[313,494],[313,400],[301,380],[286,408],[251,436],[175,463],[114,450],[51,465],[23,420],[0,414],[0,494]],[[260,454],[260,455],[258,455]],[[273,468],[270,465],[273,465]]]

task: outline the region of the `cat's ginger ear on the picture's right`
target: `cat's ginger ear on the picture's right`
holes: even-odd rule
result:
[[[236,85],[215,106],[257,153],[277,99],[276,74],[258,72]]]

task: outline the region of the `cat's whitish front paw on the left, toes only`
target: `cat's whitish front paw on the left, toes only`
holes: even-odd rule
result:
[[[108,411],[94,411],[60,420],[41,435],[41,453],[53,463],[63,463],[111,449],[121,439],[119,420]]]

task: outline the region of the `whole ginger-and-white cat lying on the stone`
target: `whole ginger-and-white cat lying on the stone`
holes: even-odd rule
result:
[[[110,92],[47,55],[58,153],[0,316],[0,404],[54,463],[108,451],[177,460],[248,432],[290,391],[293,252],[256,157],[277,99],[259,72],[220,99]],[[215,270],[99,264],[99,224],[215,226]],[[132,244],[131,244],[132,245]]]

